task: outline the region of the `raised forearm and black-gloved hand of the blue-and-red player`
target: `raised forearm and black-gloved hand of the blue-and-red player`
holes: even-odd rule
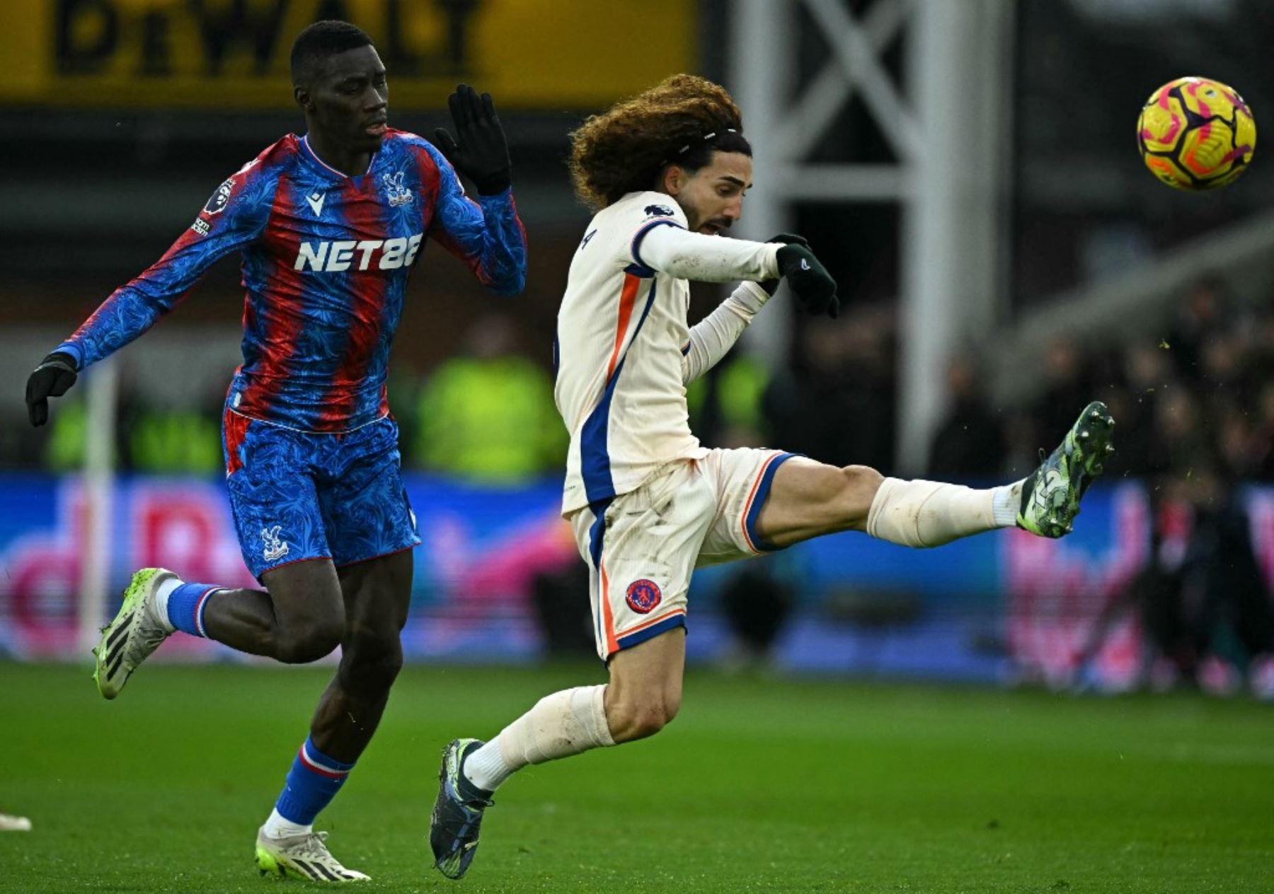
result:
[[[505,129],[490,94],[478,96],[460,84],[448,98],[456,136],[434,131],[426,144],[437,167],[438,194],[429,236],[469,265],[483,285],[499,294],[517,294],[526,284],[526,231],[517,216],[511,187],[512,164]],[[478,201],[465,196],[456,171],[478,187]]]

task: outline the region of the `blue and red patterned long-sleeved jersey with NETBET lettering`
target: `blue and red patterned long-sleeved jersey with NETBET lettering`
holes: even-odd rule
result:
[[[218,187],[153,266],[116,289],[56,350],[83,369],[145,332],[218,259],[243,257],[243,363],[228,408],[303,432],[345,432],[389,413],[390,344],[426,238],[493,292],[526,279],[512,191],[465,196],[431,143],[390,130],[349,177],[288,135]]]

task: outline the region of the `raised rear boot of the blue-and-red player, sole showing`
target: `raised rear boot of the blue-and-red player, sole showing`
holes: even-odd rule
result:
[[[124,591],[124,605],[115,620],[102,628],[102,639],[93,656],[93,680],[103,698],[115,698],[159,643],[173,632],[159,605],[158,592],[167,581],[178,581],[167,568],[143,568]]]

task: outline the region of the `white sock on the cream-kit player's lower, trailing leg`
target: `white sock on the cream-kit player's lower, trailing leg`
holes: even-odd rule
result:
[[[527,764],[614,745],[606,723],[606,686],[577,686],[545,695],[465,760],[465,778],[485,791]],[[492,754],[492,750],[498,753]],[[485,751],[485,754],[483,754]],[[479,756],[480,755],[480,756]]]

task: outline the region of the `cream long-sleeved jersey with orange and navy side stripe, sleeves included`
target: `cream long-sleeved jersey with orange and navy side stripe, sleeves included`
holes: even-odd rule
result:
[[[707,453],[691,433],[684,383],[720,359],[766,293],[741,287],[696,334],[688,280],[773,279],[781,246],[685,225],[671,196],[629,192],[598,213],[571,261],[555,345],[554,397],[571,432],[563,514],[633,490],[670,460]]]

